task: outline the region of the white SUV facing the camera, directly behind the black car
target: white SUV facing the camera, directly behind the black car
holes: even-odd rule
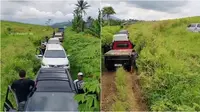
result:
[[[56,67],[70,69],[68,56],[60,44],[47,44],[41,68]]]

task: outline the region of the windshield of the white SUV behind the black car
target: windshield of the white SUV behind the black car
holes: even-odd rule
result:
[[[63,50],[46,50],[44,54],[45,58],[66,58]]]

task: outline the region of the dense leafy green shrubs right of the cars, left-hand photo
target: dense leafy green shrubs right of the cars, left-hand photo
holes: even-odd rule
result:
[[[79,71],[84,73],[85,94],[75,96],[80,111],[99,111],[100,96],[100,39],[86,32],[76,33],[69,27],[63,45],[69,57],[71,74],[76,78]],[[81,54],[81,55],[80,55]],[[92,93],[92,94],[91,94]]]

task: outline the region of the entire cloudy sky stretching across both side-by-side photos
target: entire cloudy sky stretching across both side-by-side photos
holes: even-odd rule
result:
[[[1,20],[45,24],[70,21],[77,0],[1,0]],[[200,0],[87,0],[88,16],[97,18],[98,8],[112,6],[119,19],[163,20],[200,16]]]

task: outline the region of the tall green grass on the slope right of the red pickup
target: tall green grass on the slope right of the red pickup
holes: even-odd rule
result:
[[[150,110],[200,110],[200,33],[187,31],[195,22],[200,17],[127,28],[139,52],[140,81]]]

